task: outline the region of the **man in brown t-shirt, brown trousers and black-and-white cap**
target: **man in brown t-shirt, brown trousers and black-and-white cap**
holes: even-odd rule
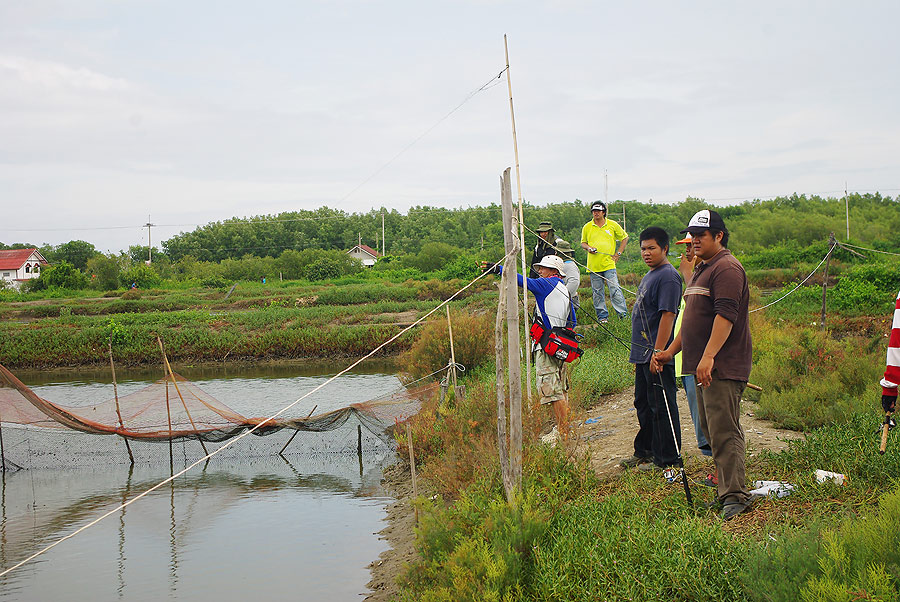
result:
[[[747,275],[727,249],[728,230],[715,211],[698,211],[681,232],[691,233],[700,263],[684,291],[681,331],[654,361],[665,364],[681,351],[683,371],[696,375],[700,427],[716,462],[722,518],[729,520],[746,512],[751,501],[739,422],[752,360]]]

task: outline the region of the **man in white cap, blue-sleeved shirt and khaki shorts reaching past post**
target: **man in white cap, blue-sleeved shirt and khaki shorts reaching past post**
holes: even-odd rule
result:
[[[482,263],[481,267],[495,274],[503,272],[503,266],[495,264],[488,266]],[[575,309],[569,298],[569,291],[563,280],[565,266],[563,260],[556,255],[547,255],[534,269],[540,274],[540,278],[523,278],[516,274],[519,286],[526,286],[537,302],[538,320],[543,322],[544,328],[549,330],[555,326],[575,326]],[[550,404],[556,418],[558,432],[565,437],[569,431],[569,383],[566,376],[566,363],[554,356],[545,353],[540,343],[535,342],[534,367],[537,375],[538,391],[542,404]]]

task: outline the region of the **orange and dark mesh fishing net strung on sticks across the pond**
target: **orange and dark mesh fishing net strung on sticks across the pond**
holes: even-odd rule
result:
[[[7,468],[135,461],[187,463],[254,427],[217,457],[291,453],[300,431],[319,433],[316,451],[393,449],[391,429],[421,407],[438,383],[306,417],[246,417],[189,380],[171,374],[145,388],[94,405],[64,406],[41,398],[0,365],[0,440]],[[308,448],[307,448],[308,449]]]

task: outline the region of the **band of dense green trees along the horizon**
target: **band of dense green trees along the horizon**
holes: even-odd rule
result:
[[[879,250],[900,251],[900,197],[851,194],[845,201],[794,194],[714,208],[731,231],[732,250],[747,258],[752,267],[769,268],[821,258],[831,232],[839,239],[845,238],[848,205],[851,241]],[[551,221],[557,235],[573,243],[578,258],[581,228],[591,218],[589,207],[590,201],[578,199],[544,206],[526,204],[525,225],[534,229],[542,221]],[[671,204],[615,201],[610,203],[608,217],[624,221],[634,241],[641,230],[651,225],[664,228],[675,240],[696,211],[710,207],[696,198]],[[500,207],[492,204],[458,209],[418,206],[405,215],[384,208],[347,213],[322,207],[233,218],[163,241],[161,250],[153,249],[151,266],[145,265],[149,249],[142,245],[110,255],[98,252],[83,240],[38,248],[51,264],[74,268],[66,270],[64,280],[68,288],[112,289],[131,284],[152,285],[154,280],[169,278],[317,280],[362,270],[359,262],[346,255],[346,250],[361,239],[380,251],[382,216],[387,257],[376,264],[376,272],[428,273],[443,269],[449,270],[450,276],[462,277],[466,275],[467,262],[476,256],[495,254],[503,244]],[[528,248],[534,240],[526,233]],[[30,246],[35,245],[0,243],[0,248]],[[630,246],[626,255],[636,257],[637,245]],[[51,275],[52,270],[48,273]],[[57,278],[61,276],[58,271]]]

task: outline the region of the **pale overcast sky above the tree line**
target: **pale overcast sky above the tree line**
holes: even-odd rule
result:
[[[0,242],[499,202],[504,34],[530,203],[893,197],[897,23],[895,0],[3,2]]]

